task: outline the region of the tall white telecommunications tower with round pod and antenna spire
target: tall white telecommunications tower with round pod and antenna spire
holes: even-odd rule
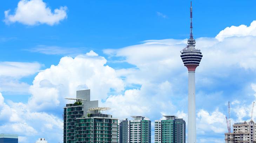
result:
[[[196,102],[195,102],[195,70],[203,57],[195,48],[193,37],[192,2],[190,6],[190,37],[188,45],[181,51],[181,59],[188,68],[188,143],[196,143]]]

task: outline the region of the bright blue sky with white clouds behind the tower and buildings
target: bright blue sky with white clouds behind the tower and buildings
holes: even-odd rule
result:
[[[63,98],[86,88],[117,118],[187,120],[187,69],[179,51],[189,36],[189,6],[189,0],[5,1],[0,132],[19,134],[20,142],[62,142]],[[194,37],[204,55],[196,71],[198,143],[224,142],[228,101],[232,123],[249,119],[255,9],[253,0],[193,1]]]

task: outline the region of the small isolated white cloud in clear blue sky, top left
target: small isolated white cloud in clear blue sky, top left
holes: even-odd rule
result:
[[[4,21],[6,23],[20,22],[26,25],[54,25],[67,17],[67,7],[56,8],[52,12],[42,0],[21,0],[14,14],[10,14],[10,11],[5,11]]]

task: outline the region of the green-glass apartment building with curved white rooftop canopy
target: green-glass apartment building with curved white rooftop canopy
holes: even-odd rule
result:
[[[117,143],[117,118],[100,112],[107,109],[89,108],[87,117],[76,119],[75,143]]]

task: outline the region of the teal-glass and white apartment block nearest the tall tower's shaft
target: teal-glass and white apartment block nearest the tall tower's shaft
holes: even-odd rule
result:
[[[155,143],[185,143],[186,122],[176,116],[164,116],[166,120],[155,120]]]

